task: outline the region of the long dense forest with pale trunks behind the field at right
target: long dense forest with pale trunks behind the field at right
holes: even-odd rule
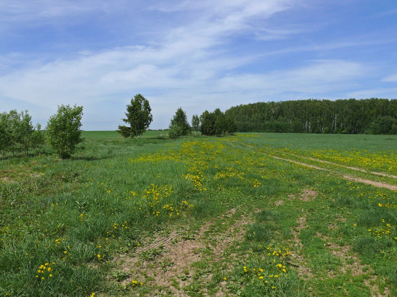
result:
[[[231,107],[237,132],[397,134],[397,99],[294,100]]]

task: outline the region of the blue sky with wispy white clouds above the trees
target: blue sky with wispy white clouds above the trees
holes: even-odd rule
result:
[[[1,0],[0,112],[43,128],[83,105],[115,130],[141,93],[150,129],[178,107],[397,98],[396,0]]]

